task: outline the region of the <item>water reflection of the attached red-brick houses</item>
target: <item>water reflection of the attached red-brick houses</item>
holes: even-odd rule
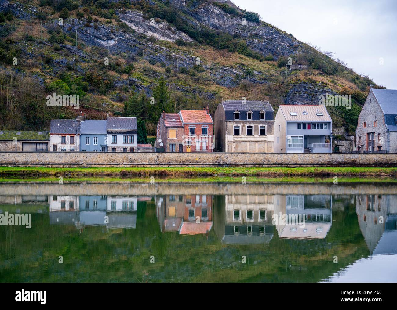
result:
[[[212,228],[212,195],[161,195],[156,205],[162,232],[197,235]]]

